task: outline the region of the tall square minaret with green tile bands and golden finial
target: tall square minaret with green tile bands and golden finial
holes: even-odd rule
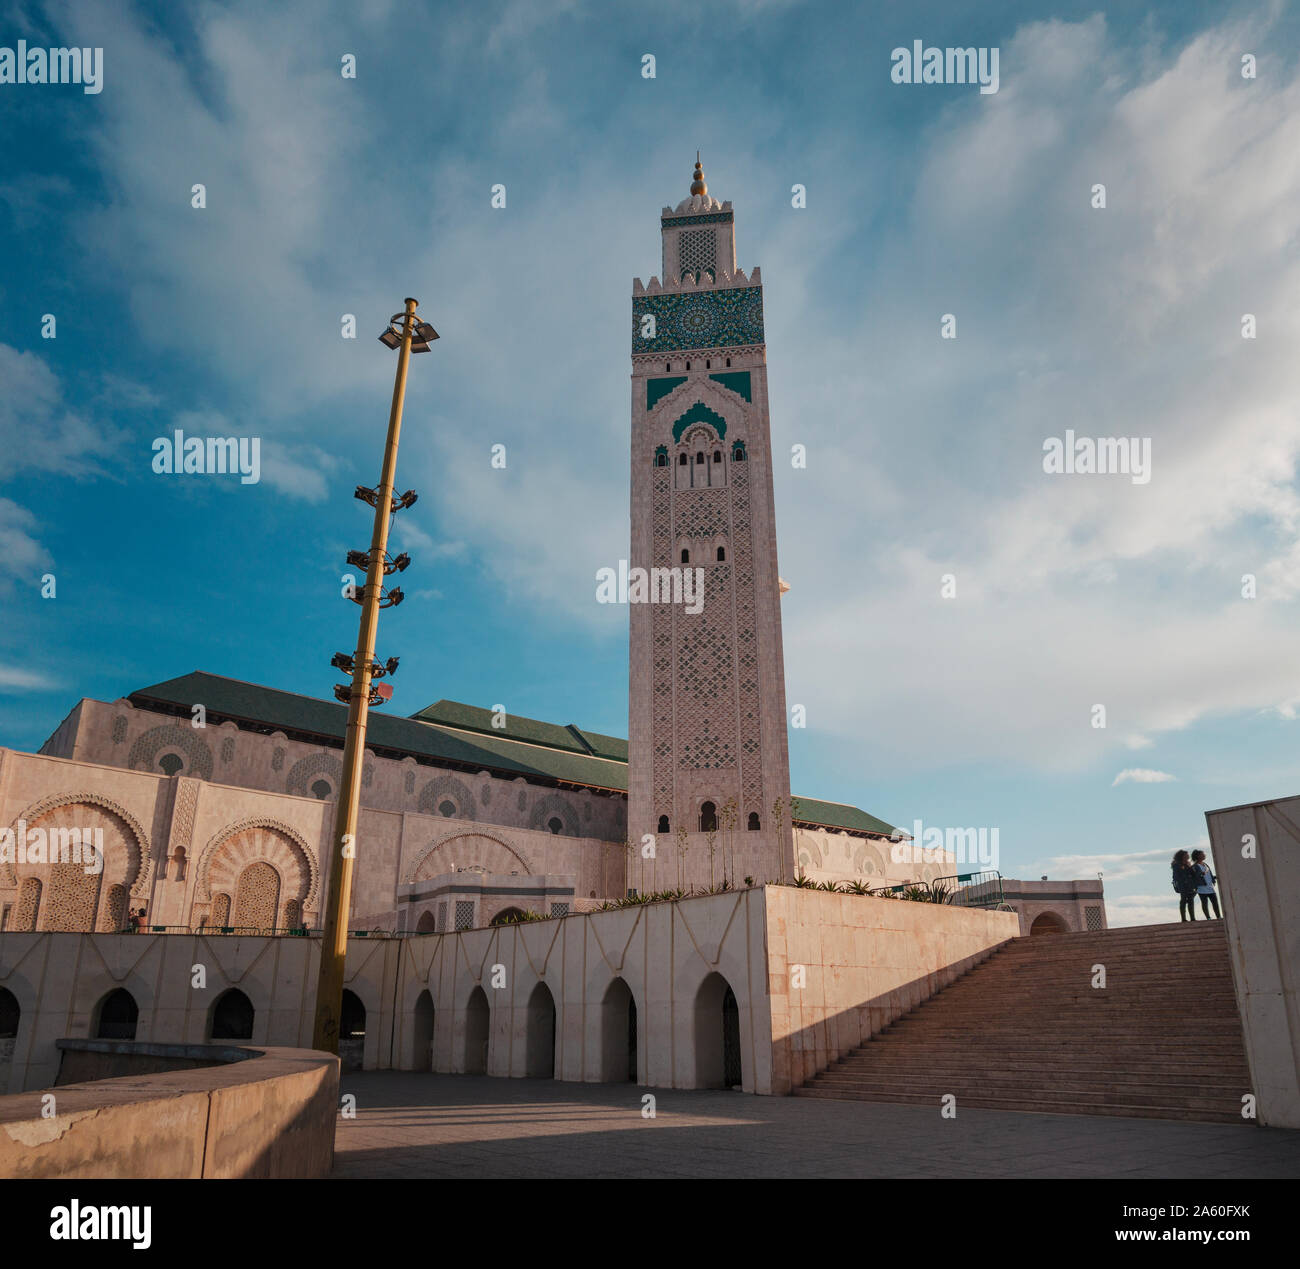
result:
[[[642,892],[793,876],[763,289],[736,267],[732,205],[698,155],[659,225],[663,281],[632,283],[629,567],[699,569],[703,602],[629,606]]]

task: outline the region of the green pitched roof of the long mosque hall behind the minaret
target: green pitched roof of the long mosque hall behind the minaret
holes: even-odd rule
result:
[[[130,694],[144,709],[162,706],[190,714],[203,705],[209,718],[233,719],[264,732],[296,732],[342,745],[347,706],[318,697],[280,692],[256,683],[225,679],[203,671],[168,679]],[[491,726],[493,711],[459,701],[436,701],[411,718],[372,710],[367,748],[411,754],[432,762],[480,767],[500,775],[541,776],[567,784],[627,792],[628,742],[573,723],[543,723],[507,715],[506,726]],[[845,802],[796,797],[794,819],[820,828],[846,828],[888,837],[894,830],[883,819]]]

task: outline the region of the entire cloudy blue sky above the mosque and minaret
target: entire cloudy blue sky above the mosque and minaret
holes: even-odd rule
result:
[[[632,278],[698,148],[763,269],[774,447],[809,452],[776,465],[796,791],[997,827],[1008,875],[1102,871],[1113,923],[1171,914],[1206,809],[1296,792],[1294,8],[263,9],[0,9],[0,44],[104,49],[99,95],[0,85],[0,744],[194,668],[329,694],[407,294],[443,338],[391,707],[625,735],[594,576]],[[914,39],[998,47],[998,92],[894,85]],[[155,475],[176,426],[260,437],[261,482]],[[1149,437],[1152,480],[1045,475],[1066,428]]]

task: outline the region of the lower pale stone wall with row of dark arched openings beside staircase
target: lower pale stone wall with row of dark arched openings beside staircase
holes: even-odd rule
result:
[[[781,1093],[1015,932],[1014,913],[766,887],[351,939],[344,987],[365,1067]],[[318,956],[318,937],[5,932],[20,1017],[0,1092],[53,1084],[56,1041],[99,1035],[118,991],[135,1010],[118,1039],[307,1047]]]

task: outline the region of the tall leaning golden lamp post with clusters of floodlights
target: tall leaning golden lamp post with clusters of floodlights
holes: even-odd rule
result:
[[[386,590],[384,579],[402,572],[411,563],[407,555],[389,555],[389,523],[395,512],[416,501],[413,490],[394,494],[398,465],[398,439],[402,434],[402,403],[406,399],[407,367],[412,352],[428,352],[438,332],[416,317],[417,300],[407,299],[406,309],[389,319],[380,335],[381,343],[398,348],[398,373],[393,384],[393,407],[389,410],[389,436],[384,446],[384,469],[374,489],[358,485],[355,497],[374,507],[374,529],[369,551],[348,551],[347,562],[365,569],[365,586],[360,594],[354,588],[352,599],[361,606],[361,623],[356,636],[356,653],[335,654],[332,664],[352,675],[350,685],[339,684],[334,694],[347,701],[347,737],[343,742],[343,778],[334,814],[334,836],[330,844],[329,887],[322,914],[321,966],[316,984],[316,1021],[312,1048],[338,1052],[339,1019],[343,1012],[343,965],[347,958],[347,917],[352,898],[352,862],[356,858],[356,819],[360,809],[361,759],[365,754],[365,720],[372,705],[391,700],[390,684],[373,680],[391,675],[398,658],[380,664],[374,659],[374,634],[380,608],[402,602],[402,590]]]

